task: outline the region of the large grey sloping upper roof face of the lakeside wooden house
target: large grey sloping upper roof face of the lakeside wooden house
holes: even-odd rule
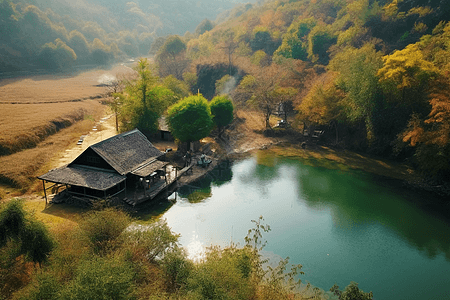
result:
[[[113,136],[90,148],[121,175],[130,173],[144,162],[164,154],[137,129]]]

